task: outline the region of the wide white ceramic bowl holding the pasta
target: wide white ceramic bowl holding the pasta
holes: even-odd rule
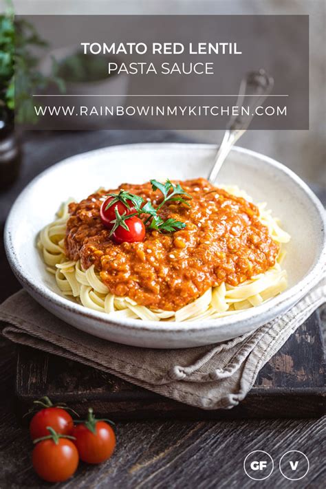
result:
[[[235,148],[217,184],[237,184],[255,202],[267,202],[292,239],[284,267],[289,287],[239,314],[191,323],[113,320],[60,295],[35,248],[36,235],[68,197],[82,199],[99,186],[185,179],[209,173],[216,147],[207,144],[131,144],[69,157],[36,177],[12,206],[5,230],[8,260],[28,292],[78,329],[126,345],[180,348],[235,338],[282,314],[320,279],[325,263],[324,209],[307,185],[269,157]]]

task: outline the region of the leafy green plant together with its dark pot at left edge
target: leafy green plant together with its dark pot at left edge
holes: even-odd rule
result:
[[[39,58],[30,48],[47,43],[34,27],[23,19],[15,20],[12,10],[0,15],[0,182],[6,188],[19,171],[21,150],[14,131],[19,124],[37,122],[30,94],[42,91],[50,82],[64,90],[63,81],[38,71]]]

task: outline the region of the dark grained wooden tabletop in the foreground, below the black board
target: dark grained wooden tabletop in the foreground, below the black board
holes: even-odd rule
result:
[[[0,340],[0,488],[49,488],[33,472],[32,443],[13,412],[15,348]],[[323,487],[325,465],[320,442],[326,417],[319,420],[182,420],[119,422],[116,453],[100,466],[80,464],[60,489],[263,488]],[[274,472],[255,483],[243,472],[252,450],[265,450],[274,459]],[[285,481],[278,469],[287,450],[301,450],[310,461],[307,477]]]

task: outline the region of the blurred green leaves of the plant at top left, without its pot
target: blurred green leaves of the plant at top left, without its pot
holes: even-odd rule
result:
[[[65,83],[57,76],[58,66],[52,60],[52,74],[37,70],[39,58],[31,48],[45,48],[34,26],[24,19],[14,19],[13,12],[0,15],[0,103],[15,110],[17,122],[37,122],[31,95],[55,83],[65,91]]]

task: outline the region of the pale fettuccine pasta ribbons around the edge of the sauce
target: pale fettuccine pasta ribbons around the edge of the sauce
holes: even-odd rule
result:
[[[225,186],[224,189],[232,195],[252,202],[245,192],[235,186]],[[285,252],[280,248],[276,263],[265,273],[257,274],[235,287],[225,282],[217,287],[210,287],[202,296],[177,311],[164,311],[138,305],[129,297],[111,294],[107,285],[101,281],[94,265],[83,270],[80,260],[67,259],[64,241],[67,219],[69,219],[69,202],[72,200],[62,204],[56,219],[41,230],[37,246],[46,270],[54,276],[61,293],[89,309],[109,314],[114,318],[138,318],[151,321],[182,322],[217,319],[261,305],[287,287],[287,274],[281,268]],[[265,207],[265,204],[258,204],[259,220],[267,226],[270,237],[276,243],[280,245],[287,243],[290,235],[281,229],[279,220],[272,217],[271,211],[266,210]]]

